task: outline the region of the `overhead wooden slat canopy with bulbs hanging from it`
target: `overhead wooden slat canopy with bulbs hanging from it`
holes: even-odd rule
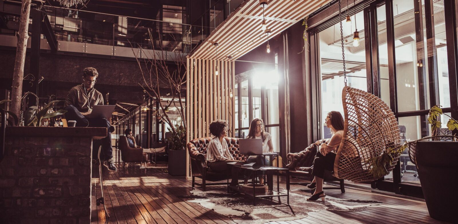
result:
[[[331,0],[269,0],[264,15],[267,28],[272,31],[270,37],[276,36],[330,2]],[[262,19],[262,7],[258,0],[243,1],[191,52],[190,57],[224,60],[227,56],[232,56],[233,60],[238,59],[266,42],[260,28]],[[212,48],[213,43],[219,44],[218,54]]]

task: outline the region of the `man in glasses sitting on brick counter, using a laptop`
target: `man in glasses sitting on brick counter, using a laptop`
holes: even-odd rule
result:
[[[82,84],[70,89],[65,98],[65,118],[67,120],[76,120],[77,127],[106,127],[107,136],[93,141],[92,158],[98,158],[98,148],[102,146],[100,159],[104,160],[104,166],[116,171],[113,163],[113,148],[111,146],[111,132],[114,127],[110,125],[107,118],[91,118],[91,112],[94,105],[104,105],[102,93],[95,88],[98,72],[93,67],[87,67],[83,70]]]

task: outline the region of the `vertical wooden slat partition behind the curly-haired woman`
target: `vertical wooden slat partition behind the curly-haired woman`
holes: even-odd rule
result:
[[[229,122],[229,137],[234,137],[234,61],[188,58],[186,83],[186,118],[189,142],[197,137],[210,137],[208,125],[217,119]],[[218,65],[219,75],[215,75]],[[234,90],[232,90],[234,92]]]

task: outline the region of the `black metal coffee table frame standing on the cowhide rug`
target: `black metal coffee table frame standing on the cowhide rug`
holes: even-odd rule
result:
[[[241,166],[233,165],[233,164],[228,164],[228,166],[229,166],[228,175],[227,175],[228,176],[227,177],[228,193],[229,193],[229,189],[232,189],[234,191],[249,195],[248,193],[246,193],[244,191],[240,191],[235,187],[229,186],[229,176],[230,176],[230,173],[232,171],[232,167],[236,166],[239,169],[246,169],[246,170],[254,171],[253,179],[252,179],[252,181],[253,181],[253,205],[256,205],[256,197],[260,197],[260,198],[263,198],[263,197],[269,198],[270,197],[272,199],[273,199],[273,197],[278,197],[278,202],[280,202],[280,203],[282,203],[280,201],[280,197],[287,197],[287,204],[289,205],[289,169],[279,168],[279,167],[275,167],[276,169],[249,169],[249,168],[252,168],[252,167],[251,166],[250,167],[241,167]],[[272,167],[272,166],[262,166],[262,167]],[[286,171],[286,191],[287,191],[286,194],[280,192],[280,184],[279,184],[279,178],[278,177],[279,177],[280,171],[282,171],[282,170]],[[273,181],[272,181],[272,185],[267,184],[267,187],[268,187],[269,191],[277,192],[279,195],[264,195],[264,196],[259,196],[258,195],[258,196],[256,196],[256,188],[255,188],[255,186],[256,186],[256,177],[257,177],[256,174],[257,174],[258,171],[266,171],[265,172],[266,174],[267,174],[267,172],[277,171],[277,191],[273,190]],[[272,175],[272,177],[273,177],[273,175]]]

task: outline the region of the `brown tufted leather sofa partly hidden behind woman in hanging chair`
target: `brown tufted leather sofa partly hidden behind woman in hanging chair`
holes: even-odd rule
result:
[[[310,181],[313,180],[312,169],[311,166],[313,164],[313,160],[315,159],[316,155],[316,146],[311,144],[309,147],[305,148],[304,151],[299,153],[288,153],[286,158],[288,159],[289,164],[286,165],[286,168],[289,169],[289,176],[290,177],[301,177],[309,182],[292,182],[290,181],[290,185],[302,185],[306,186],[310,184]],[[345,192],[344,187],[344,180],[338,179],[333,176],[334,171],[325,170],[324,173],[324,181],[337,181],[340,183],[340,187],[323,187],[323,189],[340,189],[342,193]]]

